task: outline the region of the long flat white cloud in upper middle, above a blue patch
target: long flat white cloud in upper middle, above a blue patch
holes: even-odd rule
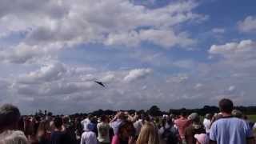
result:
[[[193,46],[196,40],[186,33],[175,34],[173,30],[139,30],[129,34],[110,34],[106,45],[138,46],[140,42],[152,42],[155,45],[170,48],[173,46]]]

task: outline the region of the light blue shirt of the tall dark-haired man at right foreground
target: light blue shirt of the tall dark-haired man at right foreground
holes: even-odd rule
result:
[[[220,118],[210,128],[210,140],[218,144],[246,144],[251,137],[253,131],[239,118]]]

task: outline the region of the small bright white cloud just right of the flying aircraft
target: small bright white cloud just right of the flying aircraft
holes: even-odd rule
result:
[[[126,77],[123,78],[123,80],[125,82],[131,82],[131,81],[134,81],[135,79],[145,78],[151,72],[152,72],[152,70],[150,70],[150,69],[134,69],[134,70],[130,70],[129,74],[127,74]]]

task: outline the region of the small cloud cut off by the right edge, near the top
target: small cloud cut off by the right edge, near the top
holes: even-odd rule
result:
[[[238,29],[244,33],[256,31],[256,17],[248,16],[243,21],[238,22]]]

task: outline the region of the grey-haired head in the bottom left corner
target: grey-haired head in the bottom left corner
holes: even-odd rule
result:
[[[18,130],[6,130],[0,136],[1,144],[28,144],[26,136],[22,133],[22,131]]]

